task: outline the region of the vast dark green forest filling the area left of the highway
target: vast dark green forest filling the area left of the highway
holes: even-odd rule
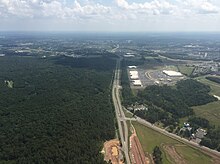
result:
[[[0,58],[0,163],[104,163],[114,68],[107,57]]]

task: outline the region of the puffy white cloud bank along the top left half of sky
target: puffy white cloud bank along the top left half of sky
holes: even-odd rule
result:
[[[4,17],[32,18],[80,18],[103,16],[111,11],[110,7],[99,3],[81,5],[75,0],[73,5],[66,5],[63,0],[0,0],[0,11]],[[0,16],[3,16],[2,14]]]

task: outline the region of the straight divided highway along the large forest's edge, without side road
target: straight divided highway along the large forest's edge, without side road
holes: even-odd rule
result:
[[[115,69],[115,76],[112,85],[112,99],[115,107],[115,114],[118,123],[118,130],[120,141],[122,144],[122,150],[124,152],[125,161],[127,164],[130,164],[129,158],[129,149],[128,149],[128,126],[126,123],[126,117],[124,111],[122,110],[121,100],[119,90],[120,86],[120,62],[121,59],[117,60],[116,69]]]

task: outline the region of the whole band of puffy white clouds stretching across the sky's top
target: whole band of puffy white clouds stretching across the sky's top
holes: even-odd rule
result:
[[[58,19],[109,19],[127,17],[136,19],[143,15],[189,16],[193,14],[217,14],[219,7],[209,0],[151,0],[143,3],[115,0],[117,7],[92,1],[83,5],[75,0],[0,0],[0,17],[58,18]],[[123,16],[127,15],[127,16]]]

